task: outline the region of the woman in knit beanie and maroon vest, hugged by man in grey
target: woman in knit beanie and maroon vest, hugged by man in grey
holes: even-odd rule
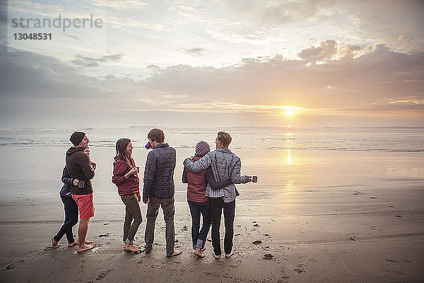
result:
[[[196,155],[192,157],[192,161],[196,162],[209,151],[211,151],[209,144],[206,141],[199,141],[196,144]],[[210,185],[212,190],[218,190],[230,185],[231,180],[216,183],[211,168],[199,173],[193,173],[184,167],[182,183],[188,184],[187,202],[189,203],[190,214],[192,214],[192,243],[194,253],[200,258],[204,258],[205,254],[202,252],[205,249],[206,236],[208,236],[209,228],[211,227],[209,198],[205,197],[206,186]],[[200,216],[203,218],[201,229]]]

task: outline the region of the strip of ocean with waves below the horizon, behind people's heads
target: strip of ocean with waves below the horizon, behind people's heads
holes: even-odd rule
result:
[[[146,144],[152,127],[94,127],[86,132],[90,146],[114,147],[128,137],[135,148]],[[69,146],[76,129],[0,129],[0,146]],[[228,127],[163,128],[166,141],[175,149],[194,148],[197,141],[214,146],[220,130],[232,135],[232,149],[310,149],[336,151],[424,151],[424,127]]]

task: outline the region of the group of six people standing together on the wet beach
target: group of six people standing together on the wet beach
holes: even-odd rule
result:
[[[151,129],[148,133],[146,149],[152,149],[146,158],[143,192],[140,193],[140,168],[132,156],[131,139],[119,139],[116,143],[112,183],[125,204],[124,250],[141,252],[134,245],[134,237],[143,218],[139,202],[147,204],[147,224],[144,233],[144,252],[151,253],[155,232],[155,221],[159,207],[165,219],[166,256],[182,253],[175,249],[175,183],[176,151],[165,143],[165,133],[161,129]],[[96,163],[90,160],[88,137],[83,132],[73,132],[69,139],[73,146],[66,151],[66,166],[62,174],[63,187],[60,197],[64,203],[65,221],[59,232],[52,237],[52,247],[58,248],[60,239],[66,234],[68,246],[78,245],[78,253],[93,248],[93,241],[86,239],[88,222],[94,216],[93,185]],[[211,229],[213,255],[220,258],[220,220],[224,214],[225,237],[224,253],[232,255],[234,235],[235,198],[239,195],[235,184],[256,181],[254,176],[241,175],[241,161],[228,146],[231,143],[228,132],[218,132],[216,150],[211,151],[206,141],[196,144],[195,155],[184,160],[182,183],[187,183],[187,202],[192,215],[192,248],[199,258],[204,258],[206,237]],[[78,222],[78,241],[73,238],[72,227]],[[202,218],[202,225],[200,220]]]

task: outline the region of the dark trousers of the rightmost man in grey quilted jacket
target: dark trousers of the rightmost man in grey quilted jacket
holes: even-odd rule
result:
[[[209,205],[211,207],[213,253],[221,254],[219,229],[221,214],[224,210],[224,251],[229,254],[232,250],[232,237],[234,236],[235,200],[224,202],[222,197],[209,197]]]

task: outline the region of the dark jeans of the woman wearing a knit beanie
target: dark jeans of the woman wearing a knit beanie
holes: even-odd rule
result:
[[[209,207],[209,202],[192,202],[191,200],[187,200],[187,202],[189,203],[190,214],[192,214],[193,249],[204,248],[209,228],[211,228],[211,208]],[[200,215],[203,217],[201,229]]]

